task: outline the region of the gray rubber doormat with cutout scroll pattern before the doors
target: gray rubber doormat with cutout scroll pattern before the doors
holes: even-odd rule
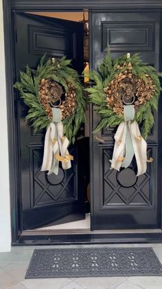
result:
[[[36,249],[25,278],[161,276],[152,248]]]

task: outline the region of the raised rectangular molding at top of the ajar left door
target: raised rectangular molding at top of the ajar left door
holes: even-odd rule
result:
[[[30,53],[31,54],[54,54],[62,57],[67,55],[76,59],[76,34],[69,31],[60,31],[56,28],[40,28],[36,26],[28,27],[30,37]],[[62,34],[62,36],[61,36]],[[69,42],[69,39],[71,41]],[[67,41],[66,41],[67,40]],[[53,43],[55,43],[55,48]],[[57,46],[56,46],[57,43]],[[71,43],[71,44],[69,44]],[[72,55],[71,55],[72,52]]]

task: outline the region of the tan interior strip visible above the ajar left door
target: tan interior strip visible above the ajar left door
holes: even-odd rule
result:
[[[32,12],[32,14],[54,17],[59,19],[66,19],[71,21],[82,21],[83,12]],[[88,19],[88,12],[84,12],[85,19]]]

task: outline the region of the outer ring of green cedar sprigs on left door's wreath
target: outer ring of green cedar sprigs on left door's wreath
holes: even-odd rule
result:
[[[46,55],[42,57],[36,70],[27,66],[25,72],[20,72],[20,82],[16,82],[14,88],[19,90],[25,105],[29,107],[26,119],[32,123],[36,132],[47,128],[51,122],[38,97],[41,79],[56,81],[65,92],[73,86],[76,92],[76,110],[62,122],[66,137],[74,143],[80,125],[85,121],[84,88],[80,83],[78,72],[70,67],[71,60],[62,57],[52,62],[51,59],[45,61],[45,57]]]

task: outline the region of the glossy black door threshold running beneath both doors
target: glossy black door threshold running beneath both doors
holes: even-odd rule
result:
[[[23,231],[12,246],[49,246],[49,245],[82,245],[82,244],[117,244],[117,243],[162,243],[162,232],[153,230],[102,230],[87,232],[38,232]]]

